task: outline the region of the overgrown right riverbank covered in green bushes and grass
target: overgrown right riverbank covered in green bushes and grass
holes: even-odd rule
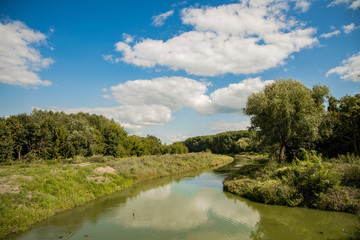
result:
[[[326,160],[313,152],[281,164],[266,157],[239,158],[245,164],[224,181],[226,191],[266,204],[360,215],[359,158]]]

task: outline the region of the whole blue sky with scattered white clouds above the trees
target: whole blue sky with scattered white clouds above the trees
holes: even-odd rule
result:
[[[360,0],[0,0],[0,117],[87,112],[165,143],[242,130],[276,79],[360,92]]]

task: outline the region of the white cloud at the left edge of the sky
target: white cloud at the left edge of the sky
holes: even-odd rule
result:
[[[35,46],[46,45],[46,36],[20,21],[0,21],[0,82],[18,86],[49,86],[37,72],[54,62],[43,58]]]

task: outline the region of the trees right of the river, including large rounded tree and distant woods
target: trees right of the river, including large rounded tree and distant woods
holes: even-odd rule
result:
[[[332,158],[360,154],[360,94],[336,99],[327,86],[312,89],[293,79],[280,79],[252,94],[244,108],[249,130],[186,139],[190,152],[218,154],[266,152],[291,161],[302,149]]]

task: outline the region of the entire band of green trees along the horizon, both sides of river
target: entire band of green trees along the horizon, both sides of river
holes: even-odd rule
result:
[[[276,80],[252,94],[244,108],[249,130],[198,136],[162,144],[155,136],[129,135],[104,116],[34,110],[0,118],[0,163],[14,160],[104,155],[143,156],[211,151],[268,152],[291,161],[301,149],[326,157],[360,154],[360,94],[336,99],[327,86],[312,89],[292,79]]]

